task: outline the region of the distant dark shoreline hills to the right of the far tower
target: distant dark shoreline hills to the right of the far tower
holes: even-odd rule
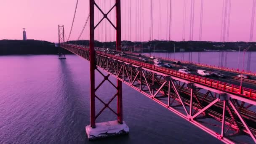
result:
[[[89,45],[89,40],[75,40],[69,41],[68,43],[80,44],[80,45]],[[143,42],[144,48],[147,48],[151,45],[149,50],[145,49],[144,52],[153,51],[155,45],[155,51],[175,51],[179,52],[180,49],[184,49],[185,52],[188,51],[205,51],[205,50],[216,50],[216,51],[239,51],[239,46],[241,49],[247,48],[249,45],[252,45],[249,51],[256,51],[255,42],[211,42],[211,41],[166,41],[166,40],[153,40],[148,42]],[[131,42],[131,41],[122,41],[122,46],[134,46],[142,47],[142,42]],[[105,47],[105,48],[115,48],[115,42],[105,42],[101,43],[95,41],[96,47]],[[128,48],[127,48],[128,50]]]

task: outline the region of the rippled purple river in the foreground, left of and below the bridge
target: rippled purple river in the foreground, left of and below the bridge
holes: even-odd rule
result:
[[[0,56],[0,73],[0,144],[221,143],[127,85],[123,113],[130,134],[89,142],[89,63],[75,55]],[[98,85],[103,77],[96,74]],[[105,102],[114,93],[108,83],[97,91]],[[103,105],[96,104],[97,113]],[[107,110],[97,122],[115,118]]]

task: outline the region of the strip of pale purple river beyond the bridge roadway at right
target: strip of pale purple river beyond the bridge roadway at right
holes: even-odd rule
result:
[[[223,66],[225,67],[225,57],[226,53],[223,53]],[[243,63],[244,63],[244,70],[245,71],[251,71],[256,73],[256,52],[251,52],[251,64],[248,65],[248,53],[245,52],[244,58],[243,58],[243,51],[239,53],[239,51],[229,51],[227,52],[227,65],[228,68],[233,69],[243,69]],[[156,57],[166,57],[170,59],[177,59],[182,60],[182,53],[151,53],[151,55]],[[216,67],[219,66],[219,60],[221,56],[221,52],[192,52],[192,62],[198,63],[198,55],[200,55],[200,63],[202,64],[211,64],[215,65]],[[189,61],[189,53],[184,52],[184,61]]]

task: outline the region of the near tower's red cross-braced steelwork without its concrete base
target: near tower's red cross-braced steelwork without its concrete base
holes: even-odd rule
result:
[[[88,58],[91,59],[90,61],[90,92],[91,92],[91,128],[96,128],[96,118],[99,117],[101,112],[104,111],[104,109],[109,108],[115,115],[117,115],[117,122],[119,124],[123,124],[123,102],[122,102],[122,82],[117,79],[116,86],[108,79],[109,76],[104,76],[98,69],[95,67],[95,51],[94,51],[94,31],[97,26],[103,21],[103,19],[107,19],[109,23],[112,25],[112,27],[116,30],[116,46],[117,50],[121,50],[121,5],[120,0],[115,0],[115,4],[110,8],[110,10],[107,13],[104,13],[101,8],[97,5],[95,0],[89,0],[89,8],[90,8],[90,48],[88,53]],[[94,7],[96,7],[102,14],[103,18],[95,25],[94,24]],[[109,20],[108,14],[115,8],[116,11],[116,25],[112,23],[112,21]],[[95,69],[104,76],[104,80],[95,88]],[[117,93],[112,96],[112,98],[105,103],[100,99],[99,96],[96,96],[95,92],[98,90],[98,88],[105,82],[109,81],[116,89]],[[115,112],[113,109],[109,107],[109,104],[112,102],[113,99],[117,97],[117,112]],[[98,99],[101,101],[101,103],[104,104],[104,107],[101,109],[101,111],[95,115],[95,99]]]

